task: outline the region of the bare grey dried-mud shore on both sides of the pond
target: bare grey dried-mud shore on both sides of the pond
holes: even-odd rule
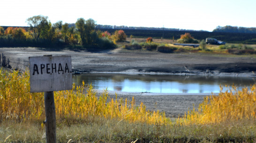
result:
[[[151,51],[127,51],[115,49],[103,52],[47,51],[40,48],[0,48],[13,68],[25,71],[29,57],[43,55],[71,55],[72,70],[79,72],[256,76],[256,57],[207,53],[158,53]],[[98,90],[98,94],[102,91]],[[193,109],[210,94],[156,94],[117,92],[118,98],[143,102],[148,110],[164,111],[168,117],[184,114]],[[109,91],[110,97],[115,93]]]

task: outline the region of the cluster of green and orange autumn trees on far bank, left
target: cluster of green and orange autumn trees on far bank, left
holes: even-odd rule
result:
[[[126,39],[123,30],[113,34],[96,30],[93,19],[78,18],[75,24],[51,23],[47,16],[36,15],[26,20],[29,28],[0,27],[0,46],[69,46],[113,48],[115,42]]]

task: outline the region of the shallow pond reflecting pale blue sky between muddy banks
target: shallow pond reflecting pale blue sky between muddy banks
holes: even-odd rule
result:
[[[255,84],[253,77],[113,73],[73,75],[72,81],[77,85],[84,81],[99,90],[152,93],[218,93],[220,85],[241,89]]]

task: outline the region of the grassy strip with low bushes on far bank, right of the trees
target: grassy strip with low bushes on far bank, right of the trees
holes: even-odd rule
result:
[[[153,42],[146,42],[146,38],[127,38],[125,42],[117,43],[118,47],[126,48],[127,45],[135,45],[140,48],[137,50],[143,51],[158,51],[164,53],[181,53],[181,52],[193,52],[193,53],[224,53],[224,54],[236,54],[236,55],[254,55],[256,54],[256,45],[248,44],[232,44],[228,43],[226,45],[206,45],[205,49],[201,46],[182,46],[182,45],[173,45],[177,43],[177,40],[173,39],[158,39],[153,38]],[[165,51],[160,51],[158,47],[164,49]],[[127,48],[128,49],[128,48]],[[134,50],[134,49],[133,49]]]

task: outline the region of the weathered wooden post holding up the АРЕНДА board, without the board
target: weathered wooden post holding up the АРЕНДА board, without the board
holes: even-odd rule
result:
[[[56,113],[53,91],[44,92],[46,143],[56,143]]]

